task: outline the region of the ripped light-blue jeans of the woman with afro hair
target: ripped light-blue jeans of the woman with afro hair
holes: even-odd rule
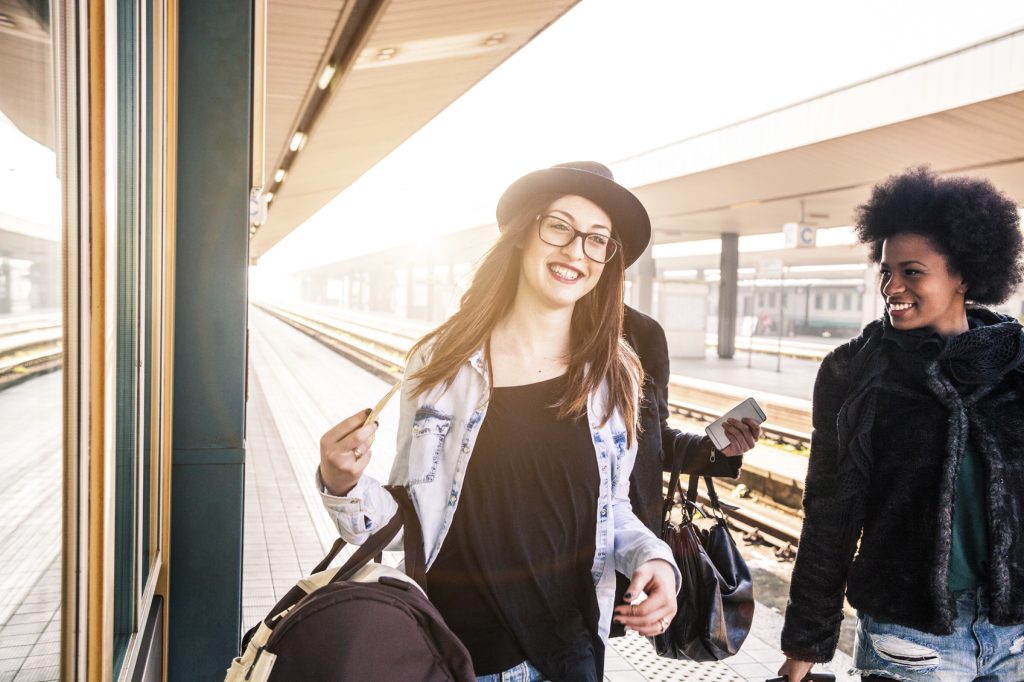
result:
[[[860,613],[850,674],[906,682],[1024,680],[1024,625],[989,623],[983,589],[954,596],[951,635],[932,635]]]

